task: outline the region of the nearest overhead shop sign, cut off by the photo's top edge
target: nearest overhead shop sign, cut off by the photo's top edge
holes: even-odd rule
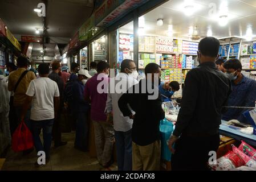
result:
[[[109,26],[149,0],[107,0],[94,13],[97,26]]]

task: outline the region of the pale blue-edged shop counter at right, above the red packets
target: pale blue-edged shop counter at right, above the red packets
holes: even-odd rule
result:
[[[221,121],[220,125],[220,134],[225,135],[227,137],[234,138],[236,140],[243,140],[246,143],[250,144],[251,146],[256,146],[256,135],[248,135],[241,133],[238,130],[231,129],[230,127],[224,125],[227,121]]]

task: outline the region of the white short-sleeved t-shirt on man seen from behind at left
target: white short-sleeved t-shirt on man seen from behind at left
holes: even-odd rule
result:
[[[32,80],[26,94],[33,97],[30,119],[54,119],[54,97],[59,97],[59,88],[55,81],[47,77]]]

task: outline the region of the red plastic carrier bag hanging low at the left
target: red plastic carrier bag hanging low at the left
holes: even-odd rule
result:
[[[29,150],[34,146],[32,133],[24,121],[15,130],[11,144],[15,152]]]

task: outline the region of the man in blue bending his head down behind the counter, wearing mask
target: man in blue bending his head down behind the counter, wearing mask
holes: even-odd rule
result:
[[[177,81],[161,82],[159,85],[159,92],[161,94],[162,102],[171,101],[174,92],[180,90],[180,84]]]

